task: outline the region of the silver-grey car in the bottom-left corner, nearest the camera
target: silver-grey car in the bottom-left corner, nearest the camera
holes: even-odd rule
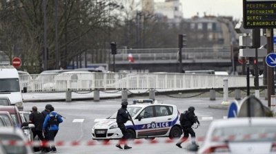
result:
[[[29,129],[28,126],[23,126],[23,129]],[[28,140],[23,134],[23,131],[19,128],[6,127],[0,129],[0,138],[2,140],[2,146],[6,150],[6,153],[10,154],[33,154],[32,145],[24,145],[24,144],[9,144],[10,142],[3,141],[17,141],[17,142],[27,142]],[[0,146],[1,147],[1,146]],[[1,150],[1,148],[0,148]]]

